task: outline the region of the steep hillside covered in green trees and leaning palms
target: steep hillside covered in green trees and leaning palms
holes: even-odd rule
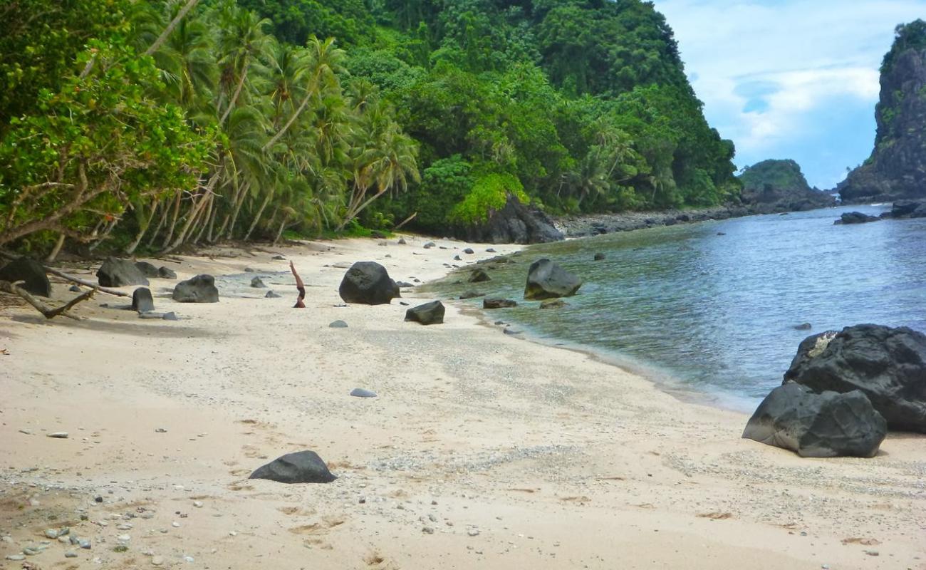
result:
[[[639,0],[6,0],[0,247],[444,232],[739,192]]]

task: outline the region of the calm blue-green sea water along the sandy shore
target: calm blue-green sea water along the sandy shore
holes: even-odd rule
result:
[[[482,284],[429,285],[439,297],[474,289],[514,298],[488,310],[542,342],[585,348],[666,386],[734,409],[755,407],[806,336],[858,323],[926,332],[926,219],[833,225],[843,211],[659,227],[527,247]],[[606,260],[594,261],[601,252]],[[582,277],[568,307],[523,301],[533,260]],[[464,301],[482,307],[482,299]],[[795,325],[811,323],[809,331]]]

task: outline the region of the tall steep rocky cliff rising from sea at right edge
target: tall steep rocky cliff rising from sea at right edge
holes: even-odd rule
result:
[[[926,197],[926,22],[897,26],[881,68],[870,158],[836,189],[845,202]]]

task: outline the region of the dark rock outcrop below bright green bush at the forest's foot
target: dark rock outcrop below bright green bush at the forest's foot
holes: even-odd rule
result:
[[[521,204],[513,195],[502,209],[489,212],[484,222],[457,226],[454,234],[465,241],[490,244],[544,244],[564,238],[549,216]]]

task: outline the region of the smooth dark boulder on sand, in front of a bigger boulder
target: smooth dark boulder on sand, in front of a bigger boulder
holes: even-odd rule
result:
[[[801,457],[874,457],[886,434],[884,418],[860,391],[816,394],[786,384],[762,400],[743,437]]]

